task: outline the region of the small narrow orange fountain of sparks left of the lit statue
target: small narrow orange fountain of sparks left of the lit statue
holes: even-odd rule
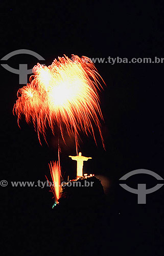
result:
[[[59,162],[50,162],[49,164],[50,167],[50,172],[51,172],[51,177],[52,177],[52,185],[51,185],[51,190],[52,193],[54,194],[55,198],[55,205],[58,204],[58,200],[60,198],[60,177],[61,177],[61,167],[59,165]],[[46,176],[45,176],[46,177]],[[46,177],[48,180],[48,178]],[[49,181],[49,180],[48,180]],[[50,183],[49,183],[50,184]]]

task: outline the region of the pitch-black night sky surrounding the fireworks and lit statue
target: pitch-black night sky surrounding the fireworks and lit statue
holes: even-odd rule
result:
[[[162,1],[23,1],[1,6],[1,58],[18,49],[35,51],[45,65],[63,54],[164,57]],[[16,69],[28,63],[30,69],[37,60],[19,55],[1,63]],[[44,142],[41,146],[32,127],[22,122],[19,129],[12,109],[22,86],[18,75],[1,67],[1,180],[9,183],[1,188],[4,255],[163,254],[163,187],[147,195],[146,205],[138,205],[137,196],[120,187],[118,180],[140,168],[164,177],[164,64],[95,65],[106,83],[101,94],[106,151],[99,138],[97,147],[84,136],[80,150],[92,157],[85,165],[90,173],[109,178],[108,206],[100,215],[69,212],[70,219],[67,212],[57,215],[51,209],[48,187],[11,186],[11,181],[50,178],[48,163],[57,160],[57,143],[50,138],[49,147]],[[75,145],[70,141],[61,147],[62,169],[73,178],[76,163],[68,155],[76,154]],[[138,181],[148,187],[157,183],[151,177],[135,177],[133,187]]]

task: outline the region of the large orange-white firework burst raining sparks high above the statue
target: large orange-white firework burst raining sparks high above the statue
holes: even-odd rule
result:
[[[57,125],[63,140],[64,129],[69,136],[74,134],[78,147],[80,131],[95,139],[95,123],[103,142],[100,123],[103,117],[98,94],[102,78],[89,58],[72,55],[69,59],[64,55],[48,67],[38,63],[33,73],[30,83],[18,90],[13,109],[18,116],[18,125],[25,116],[27,123],[34,124],[40,143],[40,135],[46,141],[48,126],[55,135]]]

